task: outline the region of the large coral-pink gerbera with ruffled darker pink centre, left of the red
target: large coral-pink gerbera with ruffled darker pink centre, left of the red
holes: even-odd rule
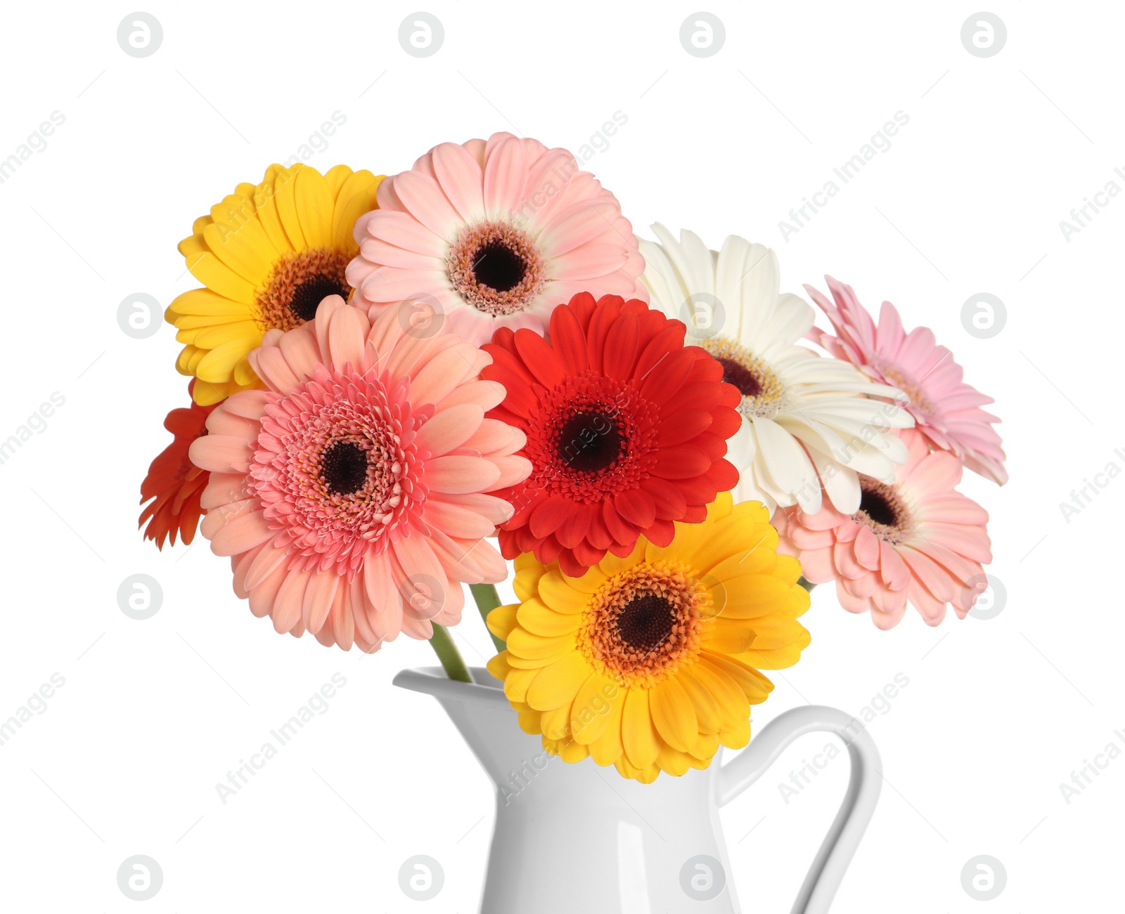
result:
[[[514,455],[522,432],[485,418],[505,395],[479,378],[490,362],[405,310],[369,319],[339,296],[262,337],[250,363],[266,389],[224,400],[190,450],[212,474],[202,533],[255,616],[372,651],[457,623],[461,581],[504,579],[482,537],[512,507],[486,492],[531,463]]]

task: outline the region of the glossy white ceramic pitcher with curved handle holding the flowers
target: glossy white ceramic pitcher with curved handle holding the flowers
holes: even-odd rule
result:
[[[516,725],[503,684],[472,684],[440,667],[403,670],[395,685],[436,698],[496,786],[496,824],[482,914],[738,914],[719,807],[757,780],[798,736],[828,732],[848,748],[852,777],[792,914],[831,904],[882,784],[866,730],[836,708],[785,712],[727,764],[627,780],[592,760],[568,764]],[[544,890],[544,887],[548,887]]]

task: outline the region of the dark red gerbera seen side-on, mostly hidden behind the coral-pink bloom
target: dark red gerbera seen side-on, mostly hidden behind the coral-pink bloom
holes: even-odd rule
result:
[[[156,549],[164,548],[166,540],[176,545],[176,535],[184,545],[196,536],[196,526],[202,515],[199,497],[207,486],[209,473],[200,470],[188,458],[188,447],[196,438],[207,434],[207,416],[212,406],[199,406],[190,400],[195,379],[188,382],[190,406],[173,409],[164,418],[164,427],[172,433],[172,443],[161,451],[148,464],[148,474],[141,483],[141,512],[138,527],[145,527],[144,536],[153,540]]]

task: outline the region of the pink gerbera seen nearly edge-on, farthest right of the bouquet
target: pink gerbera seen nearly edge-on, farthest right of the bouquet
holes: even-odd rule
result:
[[[937,345],[933,331],[915,327],[907,333],[890,301],[883,302],[876,325],[850,286],[831,277],[825,279],[835,307],[811,286],[804,288],[831,322],[836,336],[814,328],[810,338],[876,381],[906,392],[910,397],[906,408],[935,447],[952,451],[983,477],[1007,482],[1000,436],[992,427],[1000,419],[981,409],[992,398],[962,380],[961,365],[945,346]]]

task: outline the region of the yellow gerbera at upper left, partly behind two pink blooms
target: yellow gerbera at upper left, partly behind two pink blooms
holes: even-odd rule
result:
[[[187,344],[177,369],[199,379],[196,402],[261,387],[246,356],[262,335],[310,320],[326,296],[348,297],[352,226],[375,207],[381,180],[346,165],[326,174],[299,162],[270,165],[258,187],[238,184],[196,219],[180,253],[206,288],[179,296],[164,314]]]

